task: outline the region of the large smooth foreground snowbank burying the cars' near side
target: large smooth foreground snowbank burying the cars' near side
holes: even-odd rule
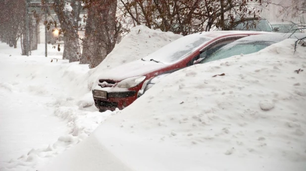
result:
[[[306,48],[293,44],[174,72],[39,171],[305,171]]]

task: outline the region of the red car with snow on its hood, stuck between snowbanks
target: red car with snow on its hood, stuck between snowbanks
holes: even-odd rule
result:
[[[265,34],[252,31],[217,31],[190,34],[152,54],[103,72],[93,88],[95,105],[100,111],[123,109],[137,99],[145,80],[158,74],[185,68],[239,38]],[[123,52],[124,53],[124,52]]]

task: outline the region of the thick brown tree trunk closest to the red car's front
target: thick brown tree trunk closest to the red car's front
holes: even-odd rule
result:
[[[116,0],[95,0],[88,10],[82,64],[98,66],[114,48],[119,35]]]

